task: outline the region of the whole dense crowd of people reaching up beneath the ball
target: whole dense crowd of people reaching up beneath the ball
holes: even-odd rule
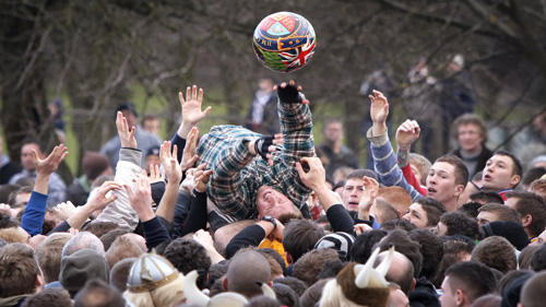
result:
[[[0,152],[0,306],[543,306],[546,158],[491,152],[479,116],[430,162],[414,119],[393,147],[372,91],[365,169],[341,120],[314,145],[294,81],[260,81],[247,128],[202,135],[203,91],[179,99],[169,141],[121,104],[68,187],[63,144]]]

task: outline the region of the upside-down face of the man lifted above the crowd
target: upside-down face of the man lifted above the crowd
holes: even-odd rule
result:
[[[278,219],[283,213],[296,210],[294,203],[287,197],[268,186],[258,189],[257,208],[258,219],[260,220],[265,215]]]

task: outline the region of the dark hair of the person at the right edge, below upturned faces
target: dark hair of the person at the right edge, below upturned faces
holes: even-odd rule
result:
[[[531,224],[526,227],[530,237],[536,237],[546,227],[546,202],[544,199],[533,192],[508,192],[507,198],[515,198],[514,209],[521,217],[531,215]]]

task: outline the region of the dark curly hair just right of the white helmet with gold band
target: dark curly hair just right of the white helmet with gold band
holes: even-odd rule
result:
[[[163,256],[183,274],[198,270],[199,278],[195,283],[201,290],[206,287],[206,275],[212,261],[201,244],[192,239],[177,238],[167,246]]]

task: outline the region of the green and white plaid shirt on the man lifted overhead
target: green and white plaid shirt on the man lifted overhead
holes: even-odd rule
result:
[[[209,198],[223,214],[234,220],[256,217],[257,194],[261,186],[284,193],[301,208],[311,190],[299,179],[296,162],[314,156],[311,111],[307,105],[278,103],[278,118],[284,144],[273,155],[273,166],[252,155],[245,142],[261,138],[239,126],[215,126],[197,147],[198,165],[213,169]]]

